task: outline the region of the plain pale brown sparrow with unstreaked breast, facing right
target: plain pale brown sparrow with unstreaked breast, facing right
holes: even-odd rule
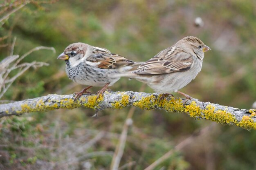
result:
[[[141,64],[135,71],[110,75],[132,77],[148,84],[157,93],[177,92],[183,88],[202,68],[204,52],[211,50],[196,37],[185,37],[175,45],[159,52],[155,57]]]

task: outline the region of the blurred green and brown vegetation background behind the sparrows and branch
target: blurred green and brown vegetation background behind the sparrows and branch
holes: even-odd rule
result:
[[[85,86],[65,74],[56,58],[74,42],[109,49],[135,61],[146,61],[185,36],[196,36],[211,47],[202,71],[182,92],[203,102],[249,109],[256,101],[256,1],[254,0],[62,0],[0,1],[0,18],[20,4],[0,27],[0,60],[22,55],[36,46],[24,62],[49,63],[29,69],[2,100],[72,94]],[[43,2],[43,3],[42,3]],[[46,3],[45,3],[46,2]],[[203,25],[196,26],[195,19]],[[13,73],[14,74],[14,73]],[[121,78],[113,91],[139,91],[142,84]],[[100,88],[92,88],[97,92]],[[153,93],[148,86],[145,92]],[[174,94],[179,96],[178,94]],[[0,169],[108,170],[130,108],[54,110],[0,119]],[[119,167],[143,170],[194,131],[212,124],[184,113],[135,109]],[[213,124],[156,170],[256,169],[256,132]],[[97,155],[98,154],[98,155]]]

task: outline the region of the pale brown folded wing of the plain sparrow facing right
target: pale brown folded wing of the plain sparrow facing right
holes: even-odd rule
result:
[[[132,73],[155,75],[186,71],[191,68],[193,56],[177,46],[171,46],[144,62]]]

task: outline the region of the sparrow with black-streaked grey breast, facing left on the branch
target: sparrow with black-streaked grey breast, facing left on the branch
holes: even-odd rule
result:
[[[127,58],[111,53],[109,50],[85,43],[74,43],[67,46],[58,59],[65,60],[67,76],[78,84],[87,85],[77,92],[75,100],[83,94],[91,94],[87,90],[92,86],[103,86],[97,92],[98,97],[120,79],[120,76],[108,76],[130,70],[143,62],[133,62]]]

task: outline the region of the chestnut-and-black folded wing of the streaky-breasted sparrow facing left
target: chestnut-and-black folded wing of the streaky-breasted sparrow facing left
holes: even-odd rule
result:
[[[119,68],[133,64],[132,60],[111,53],[107,49],[94,46],[92,54],[86,58],[86,62],[99,68]]]

